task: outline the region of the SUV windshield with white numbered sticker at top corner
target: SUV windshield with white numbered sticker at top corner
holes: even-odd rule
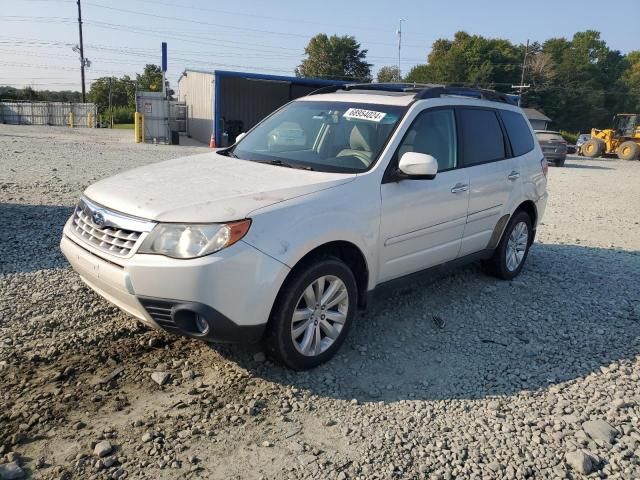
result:
[[[375,163],[405,111],[395,105],[291,102],[227,152],[280,166],[362,172]]]

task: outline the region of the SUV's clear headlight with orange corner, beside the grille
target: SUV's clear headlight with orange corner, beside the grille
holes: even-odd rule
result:
[[[246,235],[250,225],[249,219],[203,225],[159,223],[142,242],[138,253],[173,258],[202,257],[233,245]]]

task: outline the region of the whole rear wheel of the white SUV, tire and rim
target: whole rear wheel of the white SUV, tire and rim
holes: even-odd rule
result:
[[[493,256],[483,263],[485,271],[504,280],[518,276],[529,254],[532,235],[531,217],[526,212],[516,213],[509,221]]]

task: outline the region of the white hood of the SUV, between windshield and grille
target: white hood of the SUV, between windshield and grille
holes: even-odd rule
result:
[[[107,208],[148,220],[210,223],[240,220],[256,209],[354,178],[212,152],[119,173],[91,185],[84,193]]]

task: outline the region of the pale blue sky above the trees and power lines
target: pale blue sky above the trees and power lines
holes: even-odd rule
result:
[[[639,0],[617,0],[615,19],[601,0],[81,0],[87,91],[92,79],[133,76],[160,64],[168,43],[167,78],[185,68],[293,75],[317,33],[353,35],[374,73],[398,61],[425,63],[431,44],[456,31],[514,43],[571,38],[595,29],[610,48],[640,49]],[[401,6],[401,8],[399,8]],[[0,0],[0,85],[80,90],[76,0]]]

